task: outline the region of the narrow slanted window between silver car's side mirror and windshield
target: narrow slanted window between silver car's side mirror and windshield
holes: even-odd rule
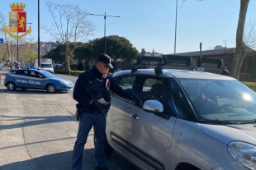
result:
[[[172,80],[167,81],[168,88],[168,106],[172,108],[173,112],[178,118],[185,120],[193,120],[191,106],[187,102],[187,98],[182,93],[178,85]]]

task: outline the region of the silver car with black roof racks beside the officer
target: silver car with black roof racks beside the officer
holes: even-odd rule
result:
[[[159,62],[157,69],[137,69],[140,62],[113,75],[141,99],[111,93],[107,156],[113,149],[140,169],[256,169],[253,90],[230,76],[202,71],[211,64],[178,70],[161,69]]]

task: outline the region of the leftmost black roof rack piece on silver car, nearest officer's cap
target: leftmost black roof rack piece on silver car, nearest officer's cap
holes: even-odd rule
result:
[[[162,57],[139,56],[137,62],[131,66],[131,71],[137,71],[139,66],[158,66],[162,64]]]

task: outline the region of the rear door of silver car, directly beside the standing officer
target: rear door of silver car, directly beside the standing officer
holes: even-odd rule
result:
[[[135,82],[134,75],[123,75],[115,77],[117,83],[123,90],[132,90]],[[107,140],[108,143],[129,155],[127,150],[127,140],[131,130],[131,109],[135,105],[135,100],[124,99],[111,92],[111,108],[107,113]]]

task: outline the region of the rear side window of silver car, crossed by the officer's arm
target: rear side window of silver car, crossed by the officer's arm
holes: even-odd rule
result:
[[[132,90],[133,84],[135,82],[135,76],[134,75],[118,76],[118,77],[115,77],[115,79],[116,79],[117,84],[123,90]],[[122,98],[121,96],[113,93],[112,91],[111,91],[111,95],[118,98],[118,99],[125,100],[126,102],[136,104],[135,99],[131,100],[131,99]]]

